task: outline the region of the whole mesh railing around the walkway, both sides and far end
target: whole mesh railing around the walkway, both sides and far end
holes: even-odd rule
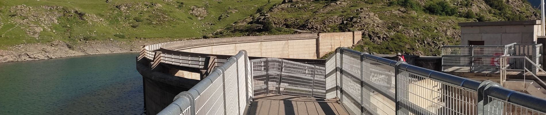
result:
[[[346,48],[325,68],[278,58],[229,58],[159,114],[244,114],[254,96],[339,98],[354,114],[545,114],[546,100]],[[254,105],[251,105],[254,106]]]

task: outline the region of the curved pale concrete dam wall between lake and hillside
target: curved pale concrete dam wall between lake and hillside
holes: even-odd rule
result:
[[[276,57],[300,62],[350,47],[361,39],[361,32],[265,35],[175,41],[143,47],[136,68],[143,75],[147,114],[157,114],[174,97],[193,85],[240,50],[252,57]]]

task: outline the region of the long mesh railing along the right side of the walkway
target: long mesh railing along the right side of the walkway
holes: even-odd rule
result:
[[[495,82],[478,82],[345,48],[327,58],[326,70],[327,89],[339,89],[328,90],[326,98],[340,98],[347,110],[355,114],[543,114],[546,111],[541,107],[546,100],[498,87]]]

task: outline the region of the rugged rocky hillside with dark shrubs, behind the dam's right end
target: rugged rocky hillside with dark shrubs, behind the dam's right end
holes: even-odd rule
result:
[[[354,50],[438,56],[460,44],[458,22],[535,20],[525,0],[284,0],[213,37],[363,31]]]

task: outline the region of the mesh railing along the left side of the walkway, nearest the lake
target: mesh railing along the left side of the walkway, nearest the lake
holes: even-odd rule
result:
[[[246,52],[240,51],[158,114],[243,114],[252,101],[250,68]]]

